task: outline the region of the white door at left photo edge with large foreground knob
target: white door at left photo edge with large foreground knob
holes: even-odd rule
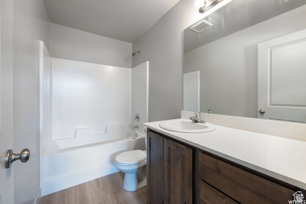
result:
[[[14,203],[13,165],[4,165],[6,151],[13,149],[12,10],[12,1],[0,1],[0,204]]]

